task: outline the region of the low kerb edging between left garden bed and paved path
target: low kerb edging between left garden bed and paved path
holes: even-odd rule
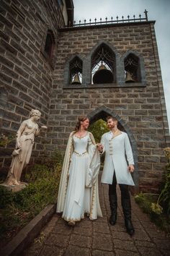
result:
[[[0,255],[21,255],[21,252],[35,239],[43,226],[55,213],[56,204],[45,207],[35,218],[14,236],[11,242],[0,251]]]

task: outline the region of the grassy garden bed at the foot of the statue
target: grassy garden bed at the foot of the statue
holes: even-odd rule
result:
[[[50,161],[33,166],[24,175],[28,185],[19,192],[0,186],[0,245],[3,246],[40,211],[55,203],[63,163],[63,154],[55,152]]]

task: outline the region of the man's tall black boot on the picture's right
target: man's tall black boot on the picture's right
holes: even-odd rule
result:
[[[124,213],[125,217],[125,227],[130,234],[130,236],[133,236],[135,233],[135,229],[133,228],[133,223],[131,221],[131,204],[130,204],[130,198],[129,199],[124,199],[122,198],[122,210]]]

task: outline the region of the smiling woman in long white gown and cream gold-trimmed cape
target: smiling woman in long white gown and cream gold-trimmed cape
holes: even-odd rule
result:
[[[91,132],[87,132],[89,119],[79,116],[76,128],[71,132],[63,161],[58,192],[57,213],[68,225],[84,218],[102,217],[99,205],[98,174],[99,152]]]

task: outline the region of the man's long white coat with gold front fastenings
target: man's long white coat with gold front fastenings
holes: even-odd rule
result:
[[[102,183],[112,184],[115,171],[117,184],[135,185],[128,165],[134,164],[133,152],[128,135],[118,130],[115,135],[110,131],[102,135],[101,144],[105,152]]]

